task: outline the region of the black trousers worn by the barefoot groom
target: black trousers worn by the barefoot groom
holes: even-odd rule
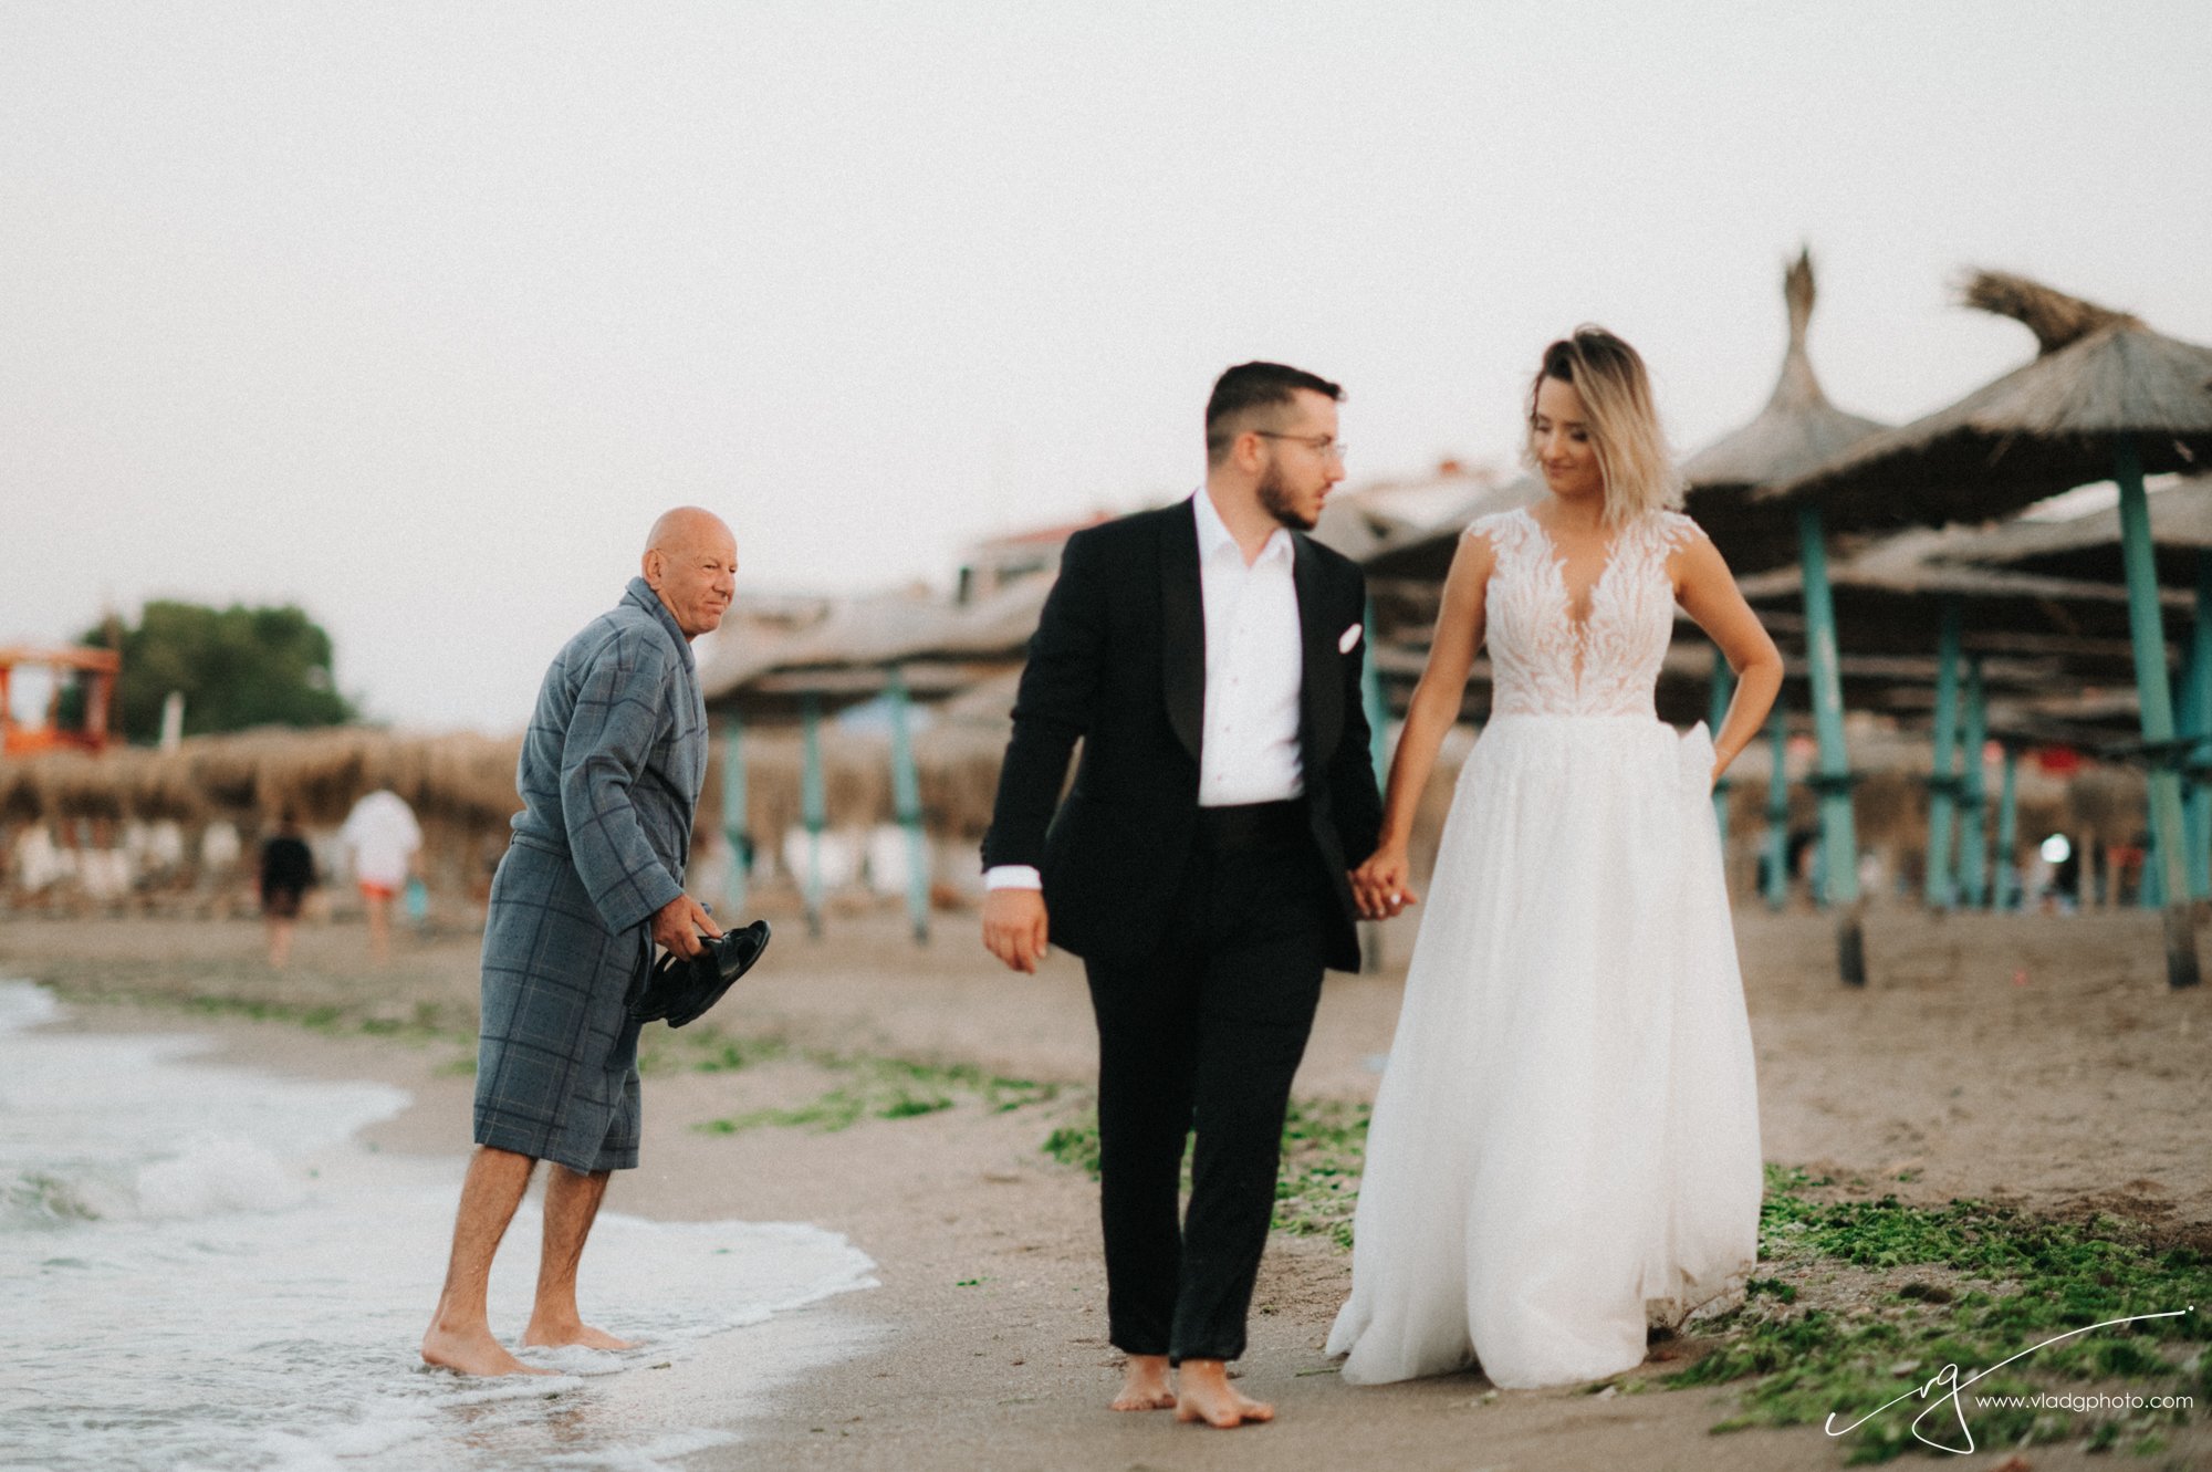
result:
[[[1159,948],[1086,961],[1099,1026],[1106,1313],[1124,1353],[1181,1364],[1245,1348],[1283,1110],[1314,1028],[1334,906],[1303,802],[1199,809]]]

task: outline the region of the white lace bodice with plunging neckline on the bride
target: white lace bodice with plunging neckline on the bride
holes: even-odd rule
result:
[[[1674,637],[1668,557],[1697,537],[1679,511],[1652,511],[1613,539],[1590,612],[1568,606],[1564,561],[1526,508],[1480,517],[1495,561],[1484,597],[1493,716],[1657,716],[1652,687]]]

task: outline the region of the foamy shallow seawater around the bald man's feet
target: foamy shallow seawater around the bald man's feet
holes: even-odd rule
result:
[[[0,1465],[675,1468],[772,1384],[732,1331],[874,1282],[816,1227],[604,1213],[584,1315],[641,1348],[531,1350],[562,1375],[526,1384],[427,1370],[465,1163],[354,1143],[403,1092],[35,1030],[58,1014],[0,981]],[[538,1227],[524,1202],[493,1271],[502,1337]]]

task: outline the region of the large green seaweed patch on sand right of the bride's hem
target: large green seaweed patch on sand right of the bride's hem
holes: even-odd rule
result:
[[[2161,1430],[2185,1421],[2188,1408],[2086,1419],[2033,1397],[2112,1384],[2146,1401],[2201,1403],[2212,1392],[2212,1324],[2194,1308],[2212,1302],[2212,1260],[2194,1247],[2159,1242],[2112,1216],[2062,1222],[1980,1200],[1820,1200],[1832,1185],[1767,1167],[1763,1275],[1736,1308],[1692,1322],[1703,1355],[1663,1377],[1666,1386],[1747,1381],[1739,1412],[1714,1430],[1827,1426],[1829,1417],[1845,1428],[1869,1417],[1840,1437],[1847,1461],[1933,1454],[1913,1437],[1913,1417],[1936,1406],[1922,1430],[1938,1441],[1960,1441],[1960,1417],[1938,1403],[1947,1388],[1927,1399],[1916,1392],[1958,1366],[1960,1379],[1989,1373],[1960,1395],[1978,1445],[2086,1437],[2093,1450],[2124,1439],[2157,1450]],[[2137,1317],[2181,1308],[2190,1313]],[[2112,1319],[2137,1322],[2073,1333]],[[2044,1344],[2057,1335],[2073,1337]],[[1902,1403],[1874,1415],[1900,1395]]]

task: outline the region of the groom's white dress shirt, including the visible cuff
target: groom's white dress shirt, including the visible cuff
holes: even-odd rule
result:
[[[1206,612],[1206,718],[1199,807],[1281,802],[1305,793],[1298,694],[1305,656],[1290,530],[1274,528],[1245,566],[1214,502],[1190,497],[1199,524],[1199,606]],[[984,871],[984,889],[1040,889],[1029,864]]]

